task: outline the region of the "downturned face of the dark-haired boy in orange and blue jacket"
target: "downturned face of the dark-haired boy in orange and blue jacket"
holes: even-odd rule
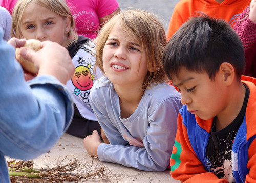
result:
[[[227,97],[221,74],[216,73],[215,80],[210,80],[204,73],[181,69],[174,77],[173,84],[181,92],[181,102],[191,114],[207,120],[217,116],[226,108]]]

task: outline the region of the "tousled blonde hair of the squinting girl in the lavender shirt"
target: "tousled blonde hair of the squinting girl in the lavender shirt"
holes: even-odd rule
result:
[[[148,73],[143,81],[143,92],[154,84],[167,81],[162,65],[162,55],[167,44],[165,30],[154,14],[144,10],[126,10],[112,17],[101,28],[95,39],[97,41],[95,65],[104,73],[102,64],[103,48],[117,22],[120,23],[123,31],[138,41],[142,53],[146,53]]]

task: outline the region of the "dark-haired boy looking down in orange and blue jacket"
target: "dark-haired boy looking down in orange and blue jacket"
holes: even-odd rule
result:
[[[242,76],[244,48],[236,32],[204,14],[190,19],[168,42],[163,66],[184,104],[170,160],[173,178],[254,182],[256,79]]]

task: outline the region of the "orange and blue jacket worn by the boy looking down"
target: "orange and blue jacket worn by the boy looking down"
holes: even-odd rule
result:
[[[246,81],[245,81],[246,80]],[[242,76],[249,90],[244,120],[232,146],[232,170],[237,183],[256,182],[256,79]],[[181,182],[228,182],[207,166],[206,148],[213,119],[202,120],[180,109],[178,131],[170,159],[171,175]]]

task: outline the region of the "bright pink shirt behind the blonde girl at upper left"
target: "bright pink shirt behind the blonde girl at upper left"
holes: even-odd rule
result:
[[[12,13],[16,2],[17,0],[2,0],[1,6]],[[78,35],[91,39],[97,36],[99,18],[112,14],[119,7],[117,0],[68,0],[67,4],[76,21]]]

